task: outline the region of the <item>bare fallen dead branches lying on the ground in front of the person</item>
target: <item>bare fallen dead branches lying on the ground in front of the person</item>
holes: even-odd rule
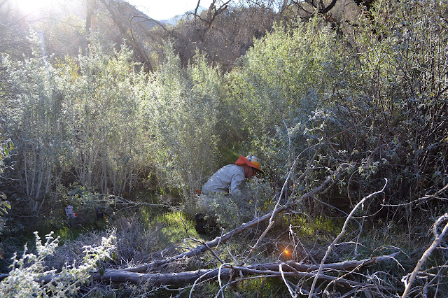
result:
[[[208,243],[202,243],[202,245],[197,246],[194,249],[188,250],[184,253],[180,253],[178,255],[174,255],[172,257],[167,257],[163,260],[155,260],[154,262],[150,262],[148,264],[143,264],[138,267],[130,267],[126,269],[106,269],[104,274],[100,274],[99,272],[92,274],[92,279],[94,281],[101,281],[105,283],[134,283],[134,284],[148,284],[153,286],[169,286],[169,285],[191,285],[191,291],[195,288],[195,285],[199,283],[203,283],[205,281],[214,281],[218,279],[220,282],[220,292],[223,291],[228,285],[232,283],[236,283],[238,281],[242,281],[247,278],[281,278],[288,287],[290,294],[295,296],[297,291],[302,291],[304,289],[302,283],[304,281],[321,281],[323,283],[330,283],[333,285],[339,285],[344,288],[349,289],[360,289],[360,290],[368,290],[368,289],[376,289],[384,292],[393,292],[396,293],[397,289],[389,286],[388,284],[376,283],[372,281],[362,282],[356,281],[356,279],[352,278],[353,275],[356,275],[360,269],[363,267],[370,266],[372,264],[377,264],[379,262],[388,262],[389,260],[395,261],[395,255],[398,253],[394,253],[392,255],[382,255],[379,257],[371,257],[365,260],[351,260],[346,262],[338,262],[338,263],[330,263],[324,264],[326,256],[323,258],[320,265],[318,264],[304,264],[302,262],[295,262],[293,260],[289,260],[286,262],[275,262],[275,263],[265,263],[265,264],[253,264],[243,266],[243,262],[247,260],[247,257],[244,258],[243,262],[237,262],[235,257],[232,256],[232,260],[234,260],[235,264],[225,263],[225,261],[220,259],[221,265],[219,267],[213,269],[198,269],[195,271],[183,271],[183,272],[175,272],[175,273],[167,273],[162,274],[160,270],[165,264],[173,263],[180,264],[183,260],[186,260],[189,257],[198,257],[202,253],[207,251],[211,251],[212,255],[216,257],[216,253],[212,250],[212,248],[225,243],[232,239],[233,236],[240,234],[241,232],[246,231],[252,227],[260,225],[261,222],[269,221],[272,225],[273,218],[275,215],[285,211],[290,207],[290,204],[295,204],[297,200],[307,199],[309,197],[314,197],[316,194],[321,194],[328,190],[328,186],[332,185],[333,179],[331,177],[327,178],[321,185],[314,188],[310,192],[302,195],[300,198],[295,199],[295,201],[288,201],[287,205],[281,206],[280,204],[276,205],[274,211],[260,217],[255,218],[250,222],[246,222],[243,225],[233,229],[232,231],[223,234],[221,236],[216,237],[213,241],[209,241]],[[384,190],[384,187],[381,191]],[[379,191],[379,192],[381,192]],[[360,206],[366,199],[372,197],[374,194],[379,192],[375,192],[365,197],[362,201],[358,203],[358,205],[353,208],[353,211],[347,217],[346,222],[351,218],[353,213],[356,211],[356,208]],[[344,225],[345,227],[346,225]],[[268,229],[265,229],[267,232]],[[342,236],[344,233],[344,228],[339,234],[339,236],[333,241],[332,246],[335,245],[336,241]],[[258,239],[260,241],[260,238]],[[257,243],[259,242],[257,241]],[[332,247],[330,246],[328,250]],[[251,248],[251,252],[255,251],[257,246],[255,245]],[[231,255],[231,254],[230,254]],[[153,271],[153,272],[151,272]],[[151,272],[151,273],[146,273]],[[46,276],[41,280],[44,283],[51,283],[54,280],[55,276]],[[221,280],[228,280],[228,283],[223,284]],[[298,282],[294,285],[293,282]],[[311,288],[311,291],[304,290],[310,295],[314,295],[314,284]]]

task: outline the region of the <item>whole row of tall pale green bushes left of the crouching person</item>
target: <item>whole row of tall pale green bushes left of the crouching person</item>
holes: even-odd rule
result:
[[[216,162],[223,76],[199,53],[182,68],[167,52],[152,74],[136,71],[129,49],[111,55],[94,41],[76,59],[54,60],[37,48],[25,62],[5,60],[16,92],[8,130],[31,211],[53,193],[51,204],[64,178],[120,195],[148,169],[158,171],[163,187],[181,190],[195,211],[194,190]]]

